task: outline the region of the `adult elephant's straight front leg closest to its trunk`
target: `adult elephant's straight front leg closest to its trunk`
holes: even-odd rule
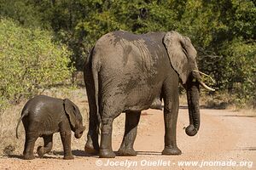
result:
[[[163,155],[180,155],[182,152],[177,148],[176,143],[176,126],[178,113],[178,94],[169,93],[166,90],[164,120],[165,120],[165,149]]]

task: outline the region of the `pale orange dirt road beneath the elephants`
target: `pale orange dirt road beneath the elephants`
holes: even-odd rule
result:
[[[119,149],[123,136],[122,114],[114,123],[113,150]],[[164,148],[162,111],[143,111],[138,127],[135,157],[99,159],[84,154],[84,139],[73,148],[75,159],[64,161],[53,152],[44,159],[24,161],[20,155],[0,158],[0,169],[256,169],[256,117],[224,110],[201,109],[201,129],[195,137],[184,133],[189,116],[180,106],[177,123],[177,145],[181,156],[161,156]],[[84,137],[85,138],[85,134]],[[55,147],[55,146],[54,146]],[[61,151],[61,146],[58,149]]]

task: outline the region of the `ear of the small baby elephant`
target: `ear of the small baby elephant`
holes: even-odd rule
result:
[[[73,128],[76,126],[75,106],[69,99],[64,99],[64,111],[66,112],[69,122]]]

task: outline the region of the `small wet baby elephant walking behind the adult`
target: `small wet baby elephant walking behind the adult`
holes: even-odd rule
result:
[[[20,120],[16,127],[18,139],[18,127],[22,120],[26,131],[26,141],[23,155],[27,160],[34,159],[34,145],[38,137],[43,137],[44,147],[38,147],[38,156],[42,157],[52,149],[53,133],[61,133],[61,141],[64,149],[64,159],[73,159],[71,152],[71,130],[77,139],[81,138],[85,127],[79,107],[69,99],[55,99],[44,95],[38,95],[26,102]]]

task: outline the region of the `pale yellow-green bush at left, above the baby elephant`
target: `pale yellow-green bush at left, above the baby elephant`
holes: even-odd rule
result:
[[[37,94],[39,88],[71,77],[67,47],[52,42],[48,31],[23,28],[0,20],[0,110],[8,102]]]

